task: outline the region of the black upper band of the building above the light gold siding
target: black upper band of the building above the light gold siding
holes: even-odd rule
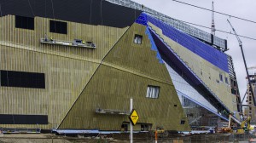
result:
[[[0,0],[0,5],[0,16],[38,16],[114,27],[131,26],[142,13],[102,0]]]

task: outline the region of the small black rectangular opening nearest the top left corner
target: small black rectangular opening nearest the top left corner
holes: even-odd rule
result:
[[[15,27],[34,30],[34,18],[15,15]]]

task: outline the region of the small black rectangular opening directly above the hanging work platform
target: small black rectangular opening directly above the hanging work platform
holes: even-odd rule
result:
[[[49,31],[61,34],[67,34],[67,22],[49,20]]]

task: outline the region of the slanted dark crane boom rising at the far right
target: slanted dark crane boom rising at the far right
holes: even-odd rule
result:
[[[230,23],[230,20],[228,20],[228,22]],[[237,35],[237,33],[236,33],[234,27],[231,25],[231,23],[230,23],[230,26],[231,26],[232,30],[234,31],[234,33],[235,33],[235,35],[236,35],[236,38],[237,38],[237,41],[238,41],[238,43],[239,43],[239,47],[241,48],[241,55],[242,55],[242,59],[243,59],[243,62],[244,62],[244,66],[245,66],[246,72],[247,72],[247,79],[248,79],[248,83],[249,83],[249,89],[250,89],[251,94],[252,94],[252,96],[253,96],[253,103],[254,103],[254,106],[256,106],[256,100],[255,100],[255,96],[254,96],[254,94],[253,94],[253,88],[252,88],[252,84],[251,84],[251,79],[249,78],[249,73],[248,73],[248,70],[247,70],[247,62],[246,62],[245,57],[244,57],[244,53],[243,53],[243,49],[242,49],[242,44],[241,44],[241,39],[240,39],[240,37],[238,37],[238,35]]]

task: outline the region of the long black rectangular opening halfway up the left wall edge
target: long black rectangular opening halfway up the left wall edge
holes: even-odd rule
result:
[[[44,73],[1,71],[1,86],[45,89]]]

